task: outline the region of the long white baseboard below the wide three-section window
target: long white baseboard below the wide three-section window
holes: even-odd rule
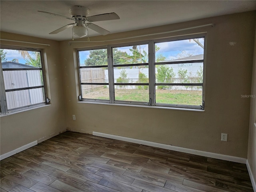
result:
[[[172,145],[167,145],[167,144],[138,140],[138,139],[110,135],[110,134],[99,133],[99,132],[92,132],[92,134],[95,136],[100,136],[100,137],[105,137],[105,138],[110,138],[110,139],[116,139],[116,140],[121,140],[121,141],[126,141],[126,142],[132,142],[132,143],[148,145],[148,146],[153,146],[153,147],[158,147],[158,148],[163,148],[163,149],[168,149],[168,150],[173,150],[173,151],[178,151],[178,152],[184,152],[184,153],[200,155],[200,156],[204,156],[204,157],[210,157],[210,158],[216,158],[216,159],[246,164],[246,158],[240,158],[240,157],[234,157],[234,156],[229,156],[229,155],[199,151],[199,150],[194,150],[194,149],[189,149],[189,148],[177,147],[177,146],[172,146]]]

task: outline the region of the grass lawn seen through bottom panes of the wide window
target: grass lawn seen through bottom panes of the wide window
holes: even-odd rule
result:
[[[87,92],[84,97],[92,99],[109,99],[108,89],[94,89]],[[115,100],[148,102],[148,90],[141,89],[115,89]],[[195,90],[156,90],[156,103],[180,104],[180,105],[202,105],[202,91]]]

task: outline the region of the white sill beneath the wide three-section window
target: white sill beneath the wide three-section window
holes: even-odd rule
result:
[[[100,105],[112,105],[112,106],[126,106],[126,107],[142,107],[142,108],[153,108],[153,109],[181,110],[181,111],[194,111],[194,112],[204,112],[203,109],[190,109],[190,108],[178,108],[178,107],[176,108],[176,107],[162,107],[162,106],[128,105],[128,104],[103,103],[103,102],[88,102],[88,101],[78,101],[78,103],[84,103],[84,104],[100,104]]]

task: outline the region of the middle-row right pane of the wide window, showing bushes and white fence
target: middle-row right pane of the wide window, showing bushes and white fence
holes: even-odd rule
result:
[[[156,83],[202,83],[203,63],[156,65]]]

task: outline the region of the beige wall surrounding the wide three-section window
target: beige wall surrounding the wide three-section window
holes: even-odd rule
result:
[[[241,98],[241,95],[249,95],[251,90],[255,12],[91,37],[90,40],[138,36],[208,23],[214,23],[215,27],[169,34],[176,36],[207,32],[204,112],[78,103],[78,72],[74,50],[102,43],[69,45],[68,41],[61,42],[67,127],[82,132],[102,132],[247,158],[250,99]],[[108,43],[117,42],[120,41]],[[229,42],[236,44],[231,46]],[[72,120],[72,114],[76,115],[76,120]],[[228,134],[228,142],[220,140],[221,133]]]

